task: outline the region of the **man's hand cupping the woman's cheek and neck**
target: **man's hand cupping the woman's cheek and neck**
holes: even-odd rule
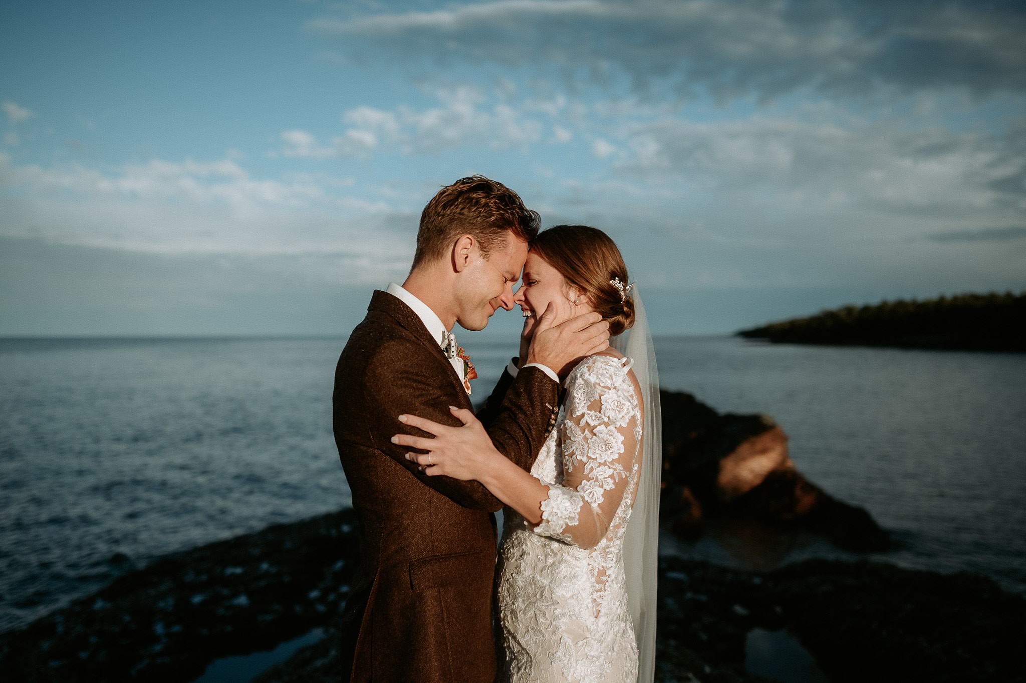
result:
[[[521,365],[537,362],[565,377],[577,360],[609,347],[609,324],[598,313],[582,313],[559,325],[552,325],[554,315],[549,304],[531,330],[527,359],[521,355]]]

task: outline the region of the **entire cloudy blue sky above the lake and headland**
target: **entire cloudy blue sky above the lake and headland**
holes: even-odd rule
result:
[[[657,333],[1023,290],[1024,34],[1014,2],[5,3],[0,335],[345,334],[471,173],[608,231]]]

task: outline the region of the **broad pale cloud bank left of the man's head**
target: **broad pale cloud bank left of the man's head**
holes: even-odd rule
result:
[[[14,165],[0,153],[0,190],[15,189],[0,191],[0,236],[163,254],[309,257],[324,267],[347,263],[343,280],[380,283],[408,267],[412,240],[396,237],[416,229],[416,220],[350,185],[259,179],[232,159],[45,168]],[[406,242],[409,249],[396,248]]]

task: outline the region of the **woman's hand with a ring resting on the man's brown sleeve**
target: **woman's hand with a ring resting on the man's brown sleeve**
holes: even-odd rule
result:
[[[406,460],[420,465],[421,471],[428,476],[441,474],[453,479],[480,479],[491,459],[503,456],[496,451],[484,425],[473,413],[452,405],[449,411],[463,422],[463,427],[447,427],[416,415],[400,415],[399,422],[434,434],[434,437],[396,434],[392,442],[427,451],[426,454],[407,453]]]

